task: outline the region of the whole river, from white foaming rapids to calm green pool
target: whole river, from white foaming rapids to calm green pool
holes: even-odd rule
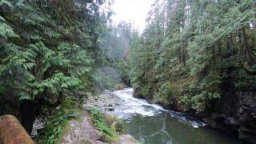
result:
[[[114,91],[121,105],[110,114],[122,118],[126,134],[131,134],[142,143],[162,144],[225,144],[241,143],[237,139],[210,129],[205,123],[185,114],[165,110],[162,106],[134,98],[133,89]]]

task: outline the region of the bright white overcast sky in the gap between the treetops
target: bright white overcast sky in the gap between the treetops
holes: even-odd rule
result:
[[[146,27],[147,13],[154,0],[114,0],[112,10],[113,22],[118,24],[120,21],[132,22],[140,33]]]

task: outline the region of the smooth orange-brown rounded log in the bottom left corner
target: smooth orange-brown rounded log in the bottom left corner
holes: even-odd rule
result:
[[[18,119],[13,115],[0,117],[0,144],[34,144]]]

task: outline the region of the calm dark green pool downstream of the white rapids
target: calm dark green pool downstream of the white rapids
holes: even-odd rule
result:
[[[188,122],[181,122],[170,114],[158,114],[150,117],[134,116],[126,120],[126,134],[144,143],[239,143],[234,138],[218,134],[215,130],[194,128]]]

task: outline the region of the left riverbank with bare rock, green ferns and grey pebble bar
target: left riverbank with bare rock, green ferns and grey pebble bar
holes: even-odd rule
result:
[[[123,133],[122,120],[106,114],[120,105],[113,93],[104,91],[88,95],[82,105],[68,99],[58,106],[58,112],[50,118],[38,117],[32,133],[35,141],[62,144],[139,143],[133,136]],[[95,111],[98,113],[94,114]]]

